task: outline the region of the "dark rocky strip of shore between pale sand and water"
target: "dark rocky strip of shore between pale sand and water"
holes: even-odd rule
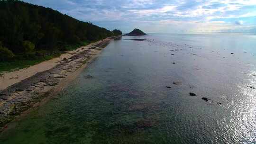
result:
[[[6,124],[24,111],[36,106],[43,99],[49,98],[62,90],[75,76],[97,57],[111,40],[121,36],[108,37],[99,44],[82,48],[82,52],[66,59],[54,68],[15,83],[0,91],[0,131]]]

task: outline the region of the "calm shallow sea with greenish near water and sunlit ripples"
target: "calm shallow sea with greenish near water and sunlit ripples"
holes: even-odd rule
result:
[[[255,144],[255,45],[246,35],[125,36],[0,144]]]

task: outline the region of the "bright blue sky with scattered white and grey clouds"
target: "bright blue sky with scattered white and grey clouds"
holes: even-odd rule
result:
[[[127,33],[256,33],[256,0],[24,0]]]

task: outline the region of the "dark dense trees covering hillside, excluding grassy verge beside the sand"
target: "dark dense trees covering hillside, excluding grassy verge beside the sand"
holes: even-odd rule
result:
[[[18,0],[0,0],[0,27],[2,47],[14,54],[29,52],[34,47],[53,51],[63,49],[64,45],[122,34]]]

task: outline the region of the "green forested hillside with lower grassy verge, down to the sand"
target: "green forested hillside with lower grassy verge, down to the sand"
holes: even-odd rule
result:
[[[121,35],[54,9],[18,0],[0,0],[0,72],[23,68],[63,51]]]

